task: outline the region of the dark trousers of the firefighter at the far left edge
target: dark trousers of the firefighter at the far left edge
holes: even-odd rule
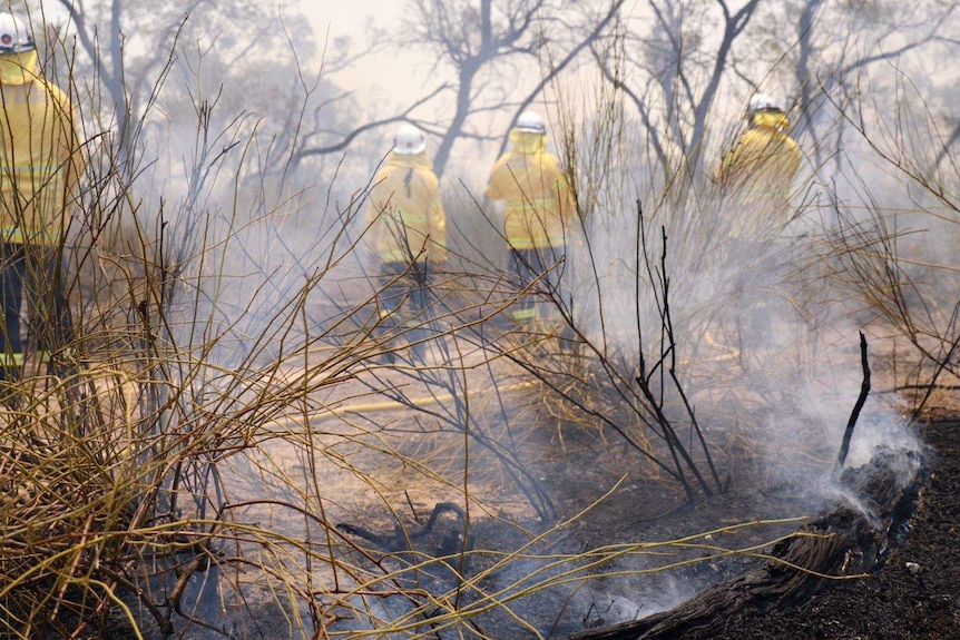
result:
[[[6,364],[23,357],[20,309],[28,308],[27,339],[31,352],[56,354],[72,339],[70,307],[63,291],[57,247],[0,243],[0,284],[6,331]]]

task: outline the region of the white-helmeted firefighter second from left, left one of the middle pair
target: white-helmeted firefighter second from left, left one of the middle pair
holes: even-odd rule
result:
[[[368,224],[380,263],[380,327],[406,327],[413,356],[429,335],[430,276],[447,260],[447,216],[423,132],[401,126],[370,193]],[[404,311],[405,307],[405,311]],[[392,362],[392,352],[388,355]]]

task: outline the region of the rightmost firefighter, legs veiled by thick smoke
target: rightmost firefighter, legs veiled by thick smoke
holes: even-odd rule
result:
[[[772,312],[778,303],[763,289],[787,255],[781,238],[793,218],[790,196],[801,152],[786,134],[786,114],[770,96],[751,98],[747,120],[747,130],[721,163],[717,181],[727,196],[728,253],[739,272],[735,287],[744,297],[737,308],[748,315],[738,318],[739,342],[764,346],[774,338]]]

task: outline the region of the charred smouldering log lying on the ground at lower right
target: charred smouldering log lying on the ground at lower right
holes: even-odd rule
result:
[[[835,502],[796,535],[774,545],[758,567],[669,611],[568,639],[655,640],[693,632],[708,637],[711,628],[722,628],[734,613],[794,607],[836,579],[878,571],[912,513],[921,470],[917,452],[878,450],[868,464],[841,474],[849,500]]]

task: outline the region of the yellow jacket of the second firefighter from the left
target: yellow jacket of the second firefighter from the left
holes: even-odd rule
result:
[[[373,249],[383,262],[414,259],[442,265],[447,260],[447,216],[440,181],[423,151],[391,151],[370,191],[366,221]]]

